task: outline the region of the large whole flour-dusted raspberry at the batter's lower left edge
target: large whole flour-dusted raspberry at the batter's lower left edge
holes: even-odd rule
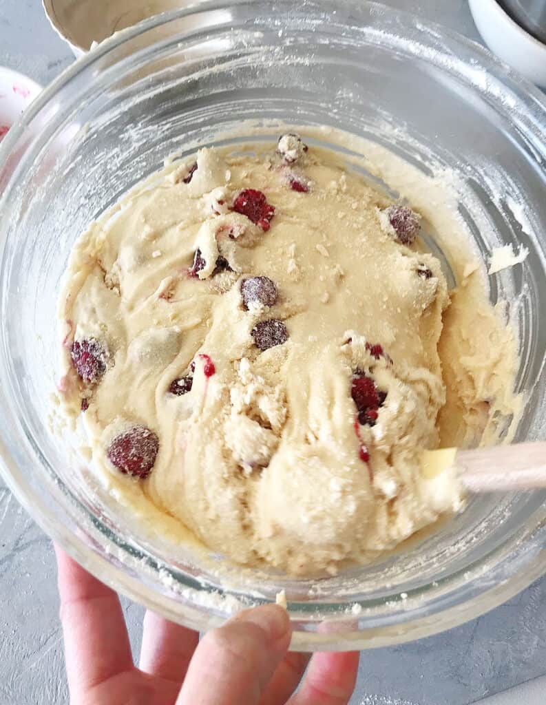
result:
[[[145,426],[133,426],[124,431],[110,443],[108,458],[114,467],[124,474],[147,477],[157,457],[159,439],[153,431]]]

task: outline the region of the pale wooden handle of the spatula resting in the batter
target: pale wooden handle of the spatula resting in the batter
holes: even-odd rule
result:
[[[546,489],[546,443],[459,450],[461,482],[471,492]]]

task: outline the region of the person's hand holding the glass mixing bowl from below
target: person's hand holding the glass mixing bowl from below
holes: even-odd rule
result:
[[[346,705],[358,653],[287,653],[277,605],[245,610],[199,643],[197,632],[152,612],[133,664],[118,596],[55,548],[72,705]]]

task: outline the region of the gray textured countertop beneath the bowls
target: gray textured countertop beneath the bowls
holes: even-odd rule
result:
[[[466,0],[387,4],[479,40]],[[0,65],[44,85],[72,61],[39,0],[0,0]],[[66,705],[51,543],[1,483],[0,537],[0,705]],[[468,705],[546,673],[545,605],[542,579],[463,627],[365,652],[351,705]],[[142,608],[123,608],[138,649]]]

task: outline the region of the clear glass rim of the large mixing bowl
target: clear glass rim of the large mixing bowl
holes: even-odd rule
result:
[[[82,56],[78,61],[59,75],[54,82],[51,83],[40,96],[35,99],[32,105],[29,107],[28,111],[25,111],[20,120],[13,125],[12,130],[6,136],[1,148],[0,148],[0,170],[1,170],[1,157],[3,154],[8,154],[8,152],[16,147],[18,139],[23,135],[25,126],[32,121],[40,111],[49,104],[49,101],[56,93],[63,88],[72,78],[78,75],[92,63],[102,58],[109,53],[109,51],[121,47],[126,41],[130,41],[139,35],[159,27],[161,25],[167,24],[172,20],[178,18],[184,18],[186,16],[198,15],[199,13],[217,10],[220,8],[231,7],[233,4],[236,5],[247,5],[251,4],[248,0],[235,0],[235,2],[225,3],[221,0],[207,0],[205,2],[198,2],[183,8],[178,11],[171,11],[169,13],[163,13],[162,15],[155,16],[153,18],[148,18],[143,20],[142,23],[138,25],[133,25],[133,27],[128,27],[126,30],[122,30],[114,37],[109,37],[104,42],[99,44],[99,46],[88,54]],[[280,0],[279,5],[281,6],[291,6],[289,0]],[[253,6],[263,6],[265,2],[255,3]],[[303,6],[309,6],[310,8],[318,8],[323,6],[324,8],[331,8],[331,4],[324,2],[323,0],[314,1],[309,0],[305,2]],[[413,16],[413,14],[406,11],[397,11],[393,8],[388,8],[382,4],[375,2],[358,2],[358,0],[349,0],[345,3],[346,6],[353,8],[356,16],[358,17],[359,12],[363,11],[365,8],[371,8],[379,13],[386,13],[391,17],[400,17],[404,19],[404,26],[409,27],[418,33],[422,37],[425,44],[432,44],[438,47],[437,38],[442,37],[442,41],[449,40],[450,46],[463,47],[470,51],[475,59],[475,64],[473,68],[485,68],[489,71],[491,82],[487,85],[487,90],[483,86],[478,85],[474,82],[473,87],[478,92],[488,92],[492,99],[499,99],[498,91],[492,90],[495,87],[495,82],[500,84],[504,90],[508,87],[515,95],[516,98],[521,102],[523,99],[526,102],[531,102],[533,105],[526,105],[526,110],[524,114],[520,114],[518,117],[526,125],[530,133],[533,133],[537,137],[539,152],[544,155],[546,161],[546,147],[542,141],[540,141],[540,118],[546,119],[546,98],[543,94],[533,87],[528,81],[521,78],[518,73],[507,68],[498,59],[495,59],[489,51],[484,49],[477,42],[473,42],[466,37],[461,37],[457,32],[451,30],[446,30],[444,27],[437,25],[436,23],[425,23],[420,18]],[[301,9],[301,8],[300,8]],[[192,30],[193,31],[193,30]],[[191,35],[191,31],[185,35],[178,37],[178,41],[183,41],[183,39]],[[426,40],[426,41],[425,41]],[[446,49],[447,51],[447,49]],[[441,57],[440,57],[441,58]],[[453,57],[450,56],[450,59]],[[441,67],[441,62],[440,62]],[[460,69],[461,66],[467,66],[467,61],[459,59],[459,64],[457,65]],[[452,69],[453,70],[453,69]],[[457,74],[462,76],[466,82],[468,82],[468,72],[466,74]],[[499,85],[497,85],[497,89]],[[514,106],[511,106],[511,111],[516,111]],[[530,119],[530,114],[532,114],[535,120]],[[0,195],[0,207],[2,198]],[[1,245],[1,243],[0,243]],[[4,396],[4,393],[0,389],[0,398]],[[166,606],[167,600],[165,596],[162,595],[162,599],[159,599],[159,591],[154,591],[148,589],[145,585],[135,580],[133,577],[128,575],[126,570],[120,568],[119,565],[114,565],[113,563],[107,561],[104,556],[97,553],[95,550],[90,550],[87,542],[83,541],[78,537],[77,534],[71,532],[61,532],[59,531],[59,526],[54,520],[46,507],[42,498],[36,495],[32,491],[30,485],[26,481],[23,472],[18,467],[16,461],[11,458],[6,449],[6,444],[4,439],[0,436],[0,470],[6,479],[6,483],[10,487],[13,494],[15,494],[18,501],[28,510],[28,513],[37,520],[40,526],[53,537],[54,540],[58,541],[66,551],[73,556],[78,562],[80,562],[87,570],[90,570],[93,574],[100,577],[100,580],[107,582],[114,589],[121,591],[126,594],[129,598],[144,603],[147,607],[154,609],[164,615],[166,618],[170,618],[175,621],[180,621],[181,616],[179,613],[175,612],[171,605]],[[530,517],[530,519],[532,519]],[[531,526],[531,524],[533,524]],[[526,522],[524,528],[527,529],[527,534],[533,534],[533,530],[542,529],[544,522],[537,525],[533,522]],[[536,534],[536,532],[535,532]],[[453,606],[442,611],[442,620],[439,620],[438,614],[433,613],[432,615],[416,616],[412,621],[404,622],[404,633],[401,633],[400,623],[385,623],[382,627],[377,628],[367,628],[363,627],[362,630],[357,630],[356,632],[351,632],[351,635],[342,635],[344,641],[340,644],[339,634],[313,634],[310,632],[294,632],[292,648],[298,650],[340,650],[340,649],[364,649],[375,646],[386,646],[388,644],[399,644],[405,641],[410,641],[411,639],[416,639],[419,637],[432,635],[437,632],[446,630],[448,628],[454,627],[467,620],[483,614],[491,608],[502,603],[511,596],[514,596],[518,591],[527,587],[528,584],[533,582],[537,577],[546,572],[546,550],[542,548],[542,536],[540,536],[540,541],[535,545],[535,550],[531,551],[533,553],[532,559],[533,563],[530,566],[526,566],[526,571],[516,572],[511,575],[508,579],[499,580],[498,584],[490,589],[481,589],[478,596],[473,596],[471,602],[456,603]],[[84,550],[85,549],[85,550]],[[107,568],[108,570],[104,570]],[[109,577],[105,580],[104,575],[109,574]],[[402,612],[409,613],[408,608],[402,608]],[[223,618],[217,618],[215,616],[205,615],[206,620],[204,623],[203,610],[198,604],[193,604],[188,606],[186,614],[183,618],[183,623],[190,625],[191,627],[202,629],[203,627],[211,627],[219,625],[223,622]]]

